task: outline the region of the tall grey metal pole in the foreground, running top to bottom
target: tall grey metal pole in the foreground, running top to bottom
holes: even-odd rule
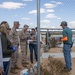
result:
[[[37,0],[38,75],[40,75],[40,0]]]

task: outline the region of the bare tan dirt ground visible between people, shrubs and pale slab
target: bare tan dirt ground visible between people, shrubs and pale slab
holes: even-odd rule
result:
[[[43,50],[43,48],[41,48],[41,51],[40,51],[41,54],[42,54],[42,50]],[[71,51],[75,52],[75,47],[73,47]],[[51,48],[46,53],[61,53],[61,52],[62,52],[62,48]],[[29,61],[28,67],[32,66],[33,64],[30,63],[29,51],[28,51],[27,59]],[[64,58],[58,58],[58,59],[61,60],[62,62],[64,62]],[[44,59],[43,62],[44,61],[47,61],[47,59]],[[34,61],[34,63],[35,63],[35,61]],[[45,63],[47,63],[47,62],[45,62]],[[64,64],[65,64],[65,62],[64,62]],[[18,72],[17,74],[10,73],[10,69],[9,69],[8,75],[20,75],[20,72],[25,69],[25,67],[23,67],[22,64],[21,64],[21,51],[20,51],[20,48],[19,48],[18,66],[21,67],[21,70],[16,70]],[[75,58],[72,58],[72,70],[71,70],[71,74],[70,75],[75,75]]]

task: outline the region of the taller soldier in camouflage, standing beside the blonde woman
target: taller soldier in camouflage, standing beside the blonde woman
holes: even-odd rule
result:
[[[18,32],[16,31],[16,29],[19,28],[19,25],[20,25],[19,22],[15,21],[14,26],[11,29],[10,34],[9,34],[12,38],[12,40],[11,40],[12,46],[17,46],[17,49],[18,49],[18,46],[19,46],[19,40],[18,40],[19,36],[18,36]],[[12,57],[11,57],[11,68],[10,68],[11,73],[17,74],[15,69],[21,69],[21,68],[18,67],[17,62],[18,62],[18,50],[16,50],[12,54]]]

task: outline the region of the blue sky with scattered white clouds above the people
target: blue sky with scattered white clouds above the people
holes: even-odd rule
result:
[[[10,28],[19,21],[29,28],[37,26],[37,0],[0,0],[0,23],[7,21]],[[61,28],[67,21],[70,28],[75,27],[75,0],[40,0],[40,27]]]

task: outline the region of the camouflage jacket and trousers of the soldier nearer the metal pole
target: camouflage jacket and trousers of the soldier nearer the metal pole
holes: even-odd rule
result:
[[[19,38],[20,38],[20,47],[22,52],[22,63],[26,62],[27,59],[27,40],[30,37],[30,34],[28,31],[20,31]]]

